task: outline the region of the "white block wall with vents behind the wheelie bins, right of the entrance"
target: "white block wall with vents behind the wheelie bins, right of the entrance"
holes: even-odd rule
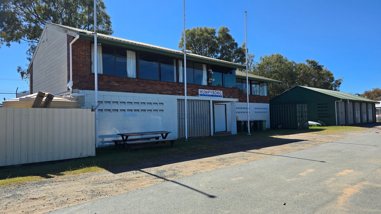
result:
[[[270,128],[270,105],[268,103],[249,103],[250,120],[266,120],[266,128]],[[235,103],[239,120],[247,120],[247,103]]]

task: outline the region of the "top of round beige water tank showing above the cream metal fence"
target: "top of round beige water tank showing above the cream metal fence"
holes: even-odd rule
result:
[[[3,107],[13,108],[81,108],[80,102],[75,97],[68,95],[56,96],[47,92],[3,101]]]

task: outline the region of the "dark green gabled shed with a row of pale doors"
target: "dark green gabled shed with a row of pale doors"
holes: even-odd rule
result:
[[[345,92],[306,86],[294,86],[270,100],[270,106],[307,104],[308,120],[328,125],[376,122],[377,103]]]

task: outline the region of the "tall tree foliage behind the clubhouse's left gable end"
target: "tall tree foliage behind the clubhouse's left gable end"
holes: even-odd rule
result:
[[[93,0],[0,0],[0,47],[27,43],[30,61],[46,22],[94,31]],[[98,32],[113,33],[103,0],[97,0]],[[17,71],[27,78],[21,66]]]

